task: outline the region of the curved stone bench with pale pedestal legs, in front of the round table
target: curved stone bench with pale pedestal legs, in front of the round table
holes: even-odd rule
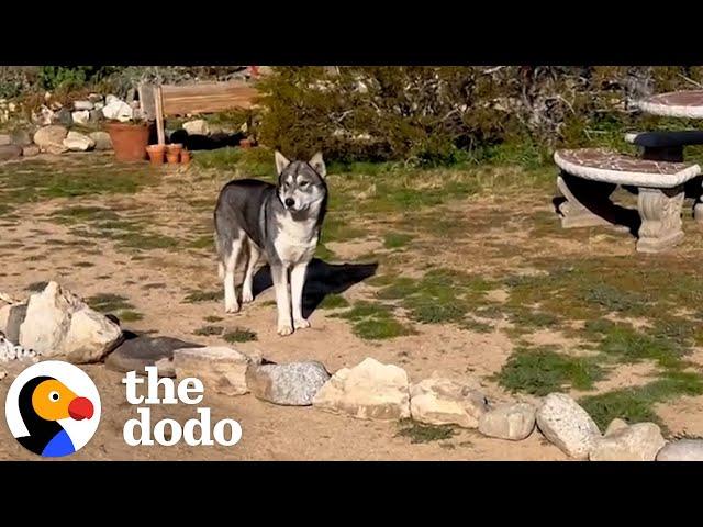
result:
[[[605,148],[557,150],[561,169],[557,187],[566,199],[558,205],[562,227],[617,225],[610,199],[617,186],[637,187],[637,250],[659,253],[683,238],[683,184],[701,173],[698,165],[641,159]]]

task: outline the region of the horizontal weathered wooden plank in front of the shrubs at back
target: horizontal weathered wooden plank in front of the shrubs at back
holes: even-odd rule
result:
[[[248,109],[258,97],[252,85],[201,82],[189,86],[161,86],[164,115],[215,113],[231,109]]]

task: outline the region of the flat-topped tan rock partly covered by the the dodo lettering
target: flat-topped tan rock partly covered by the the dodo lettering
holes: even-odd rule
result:
[[[174,369],[178,379],[194,377],[202,381],[205,393],[244,395],[249,391],[246,370],[252,358],[227,347],[182,348],[174,351]]]

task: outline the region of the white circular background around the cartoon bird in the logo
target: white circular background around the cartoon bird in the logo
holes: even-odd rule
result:
[[[32,365],[26,368],[14,380],[8,397],[4,402],[5,419],[8,427],[14,438],[29,436],[30,433],[24,425],[22,415],[20,414],[19,396],[22,386],[35,377],[53,377],[57,381],[64,383],[66,388],[71,390],[76,395],[88,399],[93,406],[93,415],[89,419],[76,421],[71,418],[59,419],[58,423],[64,427],[76,450],[83,448],[90,438],[96,434],[100,424],[100,394],[92,379],[80,368],[59,360],[45,360]]]

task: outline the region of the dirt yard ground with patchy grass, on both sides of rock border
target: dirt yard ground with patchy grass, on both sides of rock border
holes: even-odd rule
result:
[[[120,167],[99,155],[0,167],[0,291],[24,298],[37,282],[56,280],[136,333],[226,345],[222,335],[242,329],[256,339],[233,346],[279,362],[314,359],[333,372],[373,357],[403,367],[414,382],[435,371],[471,375],[496,401],[560,390],[591,397],[600,421],[656,418],[669,437],[703,436],[695,327],[703,231],[691,220],[679,248],[644,256],[612,228],[560,229],[550,168],[537,176],[510,167],[333,172],[324,261],[306,291],[312,327],[281,338],[265,269],[255,302],[224,314],[212,208],[222,183],[246,164],[202,156],[209,162],[197,155],[176,170]],[[257,176],[270,169],[258,159],[250,165]],[[371,315],[350,313],[368,305]],[[612,325],[594,328],[596,321]],[[19,366],[3,368],[4,400]],[[103,414],[96,437],[71,459],[566,459],[539,434],[511,442],[456,428],[413,442],[412,434],[399,434],[404,423],[223,397],[207,386],[213,419],[242,424],[238,445],[129,447],[122,427],[135,408],[122,375],[102,365],[82,368],[100,390]],[[153,414],[180,422],[196,415],[187,405]],[[33,458],[3,423],[0,459]]]

